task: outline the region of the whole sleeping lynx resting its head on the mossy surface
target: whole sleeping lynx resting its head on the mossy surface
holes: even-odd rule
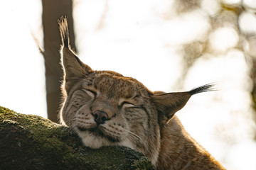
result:
[[[223,169],[174,115],[193,94],[212,90],[211,84],[186,92],[152,92],[137,79],[95,71],[70,50],[67,18],[59,26],[64,70],[60,122],[73,128],[85,146],[129,147],[156,169]]]

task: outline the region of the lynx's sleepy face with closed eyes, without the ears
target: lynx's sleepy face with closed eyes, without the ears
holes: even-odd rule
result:
[[[139,81],[115,72],[90,72],[67,91],[62,122],[75,129],[87,147],[122,145],[154,159],[159,125],[152,95]],[[152,149],[154,148],[154,149]],[[154,160],[156,161],[156,160]]]

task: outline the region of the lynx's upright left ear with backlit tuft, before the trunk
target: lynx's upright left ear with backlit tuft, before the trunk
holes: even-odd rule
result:
[[[68,91],[69,87],[78,79],[92,72],[92,69],[86,64],[82,63],[75,53],[70,50],[70,40],[68,35],[68,20],[66,17],[60,18],[58,21],[60,26],[60,36],[62,40],[62,47],[60,50],[65,89]]]

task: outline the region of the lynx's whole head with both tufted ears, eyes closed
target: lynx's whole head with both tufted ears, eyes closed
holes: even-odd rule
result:
[[[210,85],[181,93],[151,92],[131,77],[95,71],[70,50],[68,23],[59,21],[63,45],[63,106],[60,121],[73,128],[87,147],[122,145],[156,163],[161,128],[193,94]]]

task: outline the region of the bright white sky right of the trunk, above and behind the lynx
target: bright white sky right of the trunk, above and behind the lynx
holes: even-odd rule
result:
[[[204,1],[203,10],[166,17],[169,6],[160,6],[161,13],[155,10],[159,6],[156,1],[140,1],[146,6],[128,1],[77,2],[75,33],[82,61],[92,69],[134,77],[152,91],[178,89],[185,62],[179,45],[207,39],[210,23],[206,13],[215,15],[220,8],[214,1],[212,5]],[[238,170],[248,162],[238,154],[242,145],[255,147],[248,93],[252,89],[250,67],[243,53],[234,50],[239,40],[234,28],[217,28],[209,40],[215,56],[205,54],[193,64],[183,90],[215,82],[219,91],[193,96],[177,115],[186,130],[227,169]],[[253,167],[250,162],[248,169]]]

